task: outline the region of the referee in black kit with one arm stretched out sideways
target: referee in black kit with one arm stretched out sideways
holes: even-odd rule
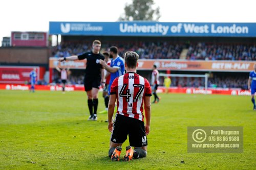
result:
[[[84,89],[88,96],[88,108],[90,111],[90,117],[88,120],[97,120],[97,108],[98,108],[98,92],[101,85],[104,88],[104,69],[99,64],[99,60],[104,60],[104,56],[99,53],[101,42],[94,40],[92,45],[92,51],[84,53],[79,56],[61,57],[59,61],[66,60],[83,60],[87,59],[86,74],[84,76]]]

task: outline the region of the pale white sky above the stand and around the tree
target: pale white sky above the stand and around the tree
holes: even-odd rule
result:
[[[256,22],[255,0],[154,0],[160,22]],[[0,1],[0,46],[11,31],[49,31],[49,21],[114,22],[132,0]]]

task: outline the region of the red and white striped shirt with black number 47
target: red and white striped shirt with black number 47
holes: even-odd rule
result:
[[[145,78],[135,72],[127,72],[113,81],[110,94],[117,95],[118,114],[144,120],[144,97],[151,96],[151,86]]]

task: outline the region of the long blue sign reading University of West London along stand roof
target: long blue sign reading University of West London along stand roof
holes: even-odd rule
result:
[[[256,23],[50,22],[50,34],[256,37]]]

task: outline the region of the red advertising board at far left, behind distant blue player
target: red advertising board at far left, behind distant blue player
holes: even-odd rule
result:
[[[0,83],[24,84],[30,81],[30,71],[36,68],[37,80],[44,77],[44,67],[30,66],[0,66]]]

